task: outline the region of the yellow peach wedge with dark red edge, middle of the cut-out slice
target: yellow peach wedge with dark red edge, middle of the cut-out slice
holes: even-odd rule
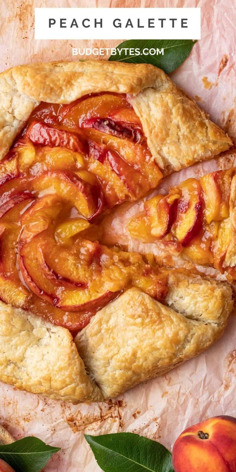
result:
[[[188,246],[202,228],[202,188],[190,178],[179,185],[182,197],[178,202],[177,221],[173,233],[183,246]]]

